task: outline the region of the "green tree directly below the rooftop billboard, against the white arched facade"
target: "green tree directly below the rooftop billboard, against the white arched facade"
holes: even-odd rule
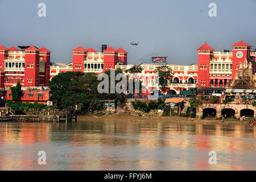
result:
[[[166,90],[168,81],[172,80],[172,69],[168,68],[166,65],[156,68],[156,73],[159,77],[159,86],[162,91]]]

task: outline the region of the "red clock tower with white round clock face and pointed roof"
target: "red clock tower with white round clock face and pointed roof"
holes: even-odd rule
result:
[[[233,57],[232,57],[232,79],[237,73],[237,69],[240,63],[244,63],[245,59],[250,62],[250,49],[251,46],[242,40],[234,45],[233,47]]]

